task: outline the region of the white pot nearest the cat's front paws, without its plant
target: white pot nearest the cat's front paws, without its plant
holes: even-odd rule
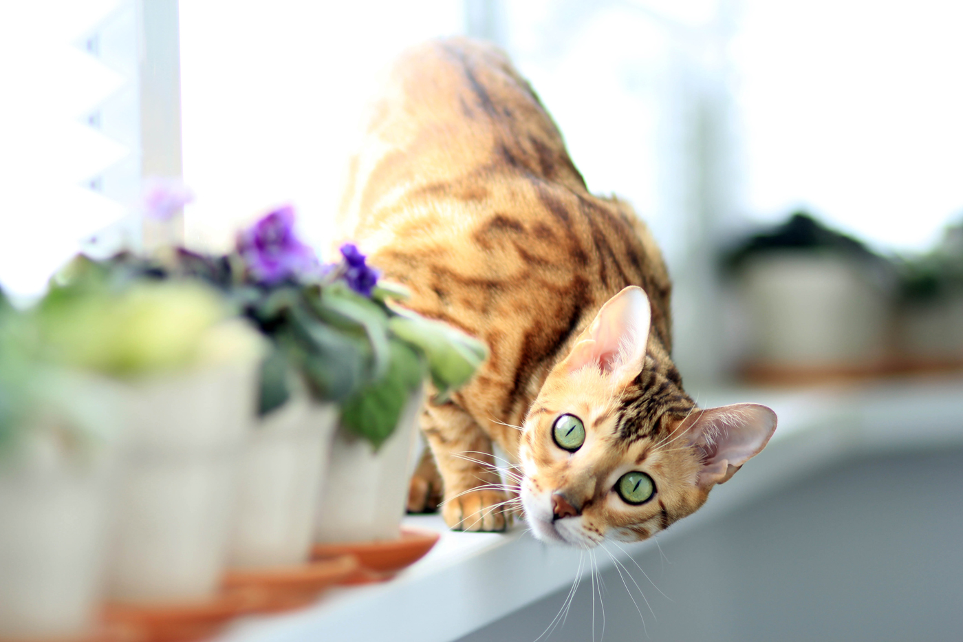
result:
[[[401,536],[414,467],[423,389],[405,405],[398,427],[381,447],[341,429],[335,433],[318,511],[318,542],[366,542]]]

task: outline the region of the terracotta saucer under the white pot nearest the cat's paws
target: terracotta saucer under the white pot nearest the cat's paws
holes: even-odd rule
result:
[[[421,559],[439,537],[433,530],[402,528],[402,536],[397,540],[316,544],[312,549],[312,557],[320,560],[337,555],[353,555],[361,568],[341,583],[382,581]]]

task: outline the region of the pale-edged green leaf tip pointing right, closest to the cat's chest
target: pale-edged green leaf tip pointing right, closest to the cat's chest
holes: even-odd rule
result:
[[[481,341],[452,326],[407,312],[388,323],[391,332],[421,349],[428,358],[431,382],[444,400],[464,386],[488,356]]]

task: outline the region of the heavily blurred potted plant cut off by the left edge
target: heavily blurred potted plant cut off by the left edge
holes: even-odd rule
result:
[[[83,637],[101,597],[116,400],[36,341],[0,292],[2,639]]]

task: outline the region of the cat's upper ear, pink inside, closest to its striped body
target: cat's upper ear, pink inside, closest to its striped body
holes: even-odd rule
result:
[[[628,384],[645,362],[651,321],[645,290],[626,287],[602,306],[562,366],[571,372],[594,364],[616,384]]]

